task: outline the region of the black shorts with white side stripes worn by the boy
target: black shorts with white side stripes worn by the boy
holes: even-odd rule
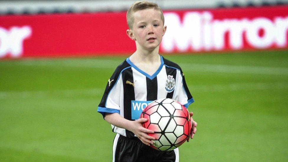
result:
[[[158,151],[142,143],[137,137],[127,138],[116,134],[113,141],[113,162],[178,162],[178,148]]]

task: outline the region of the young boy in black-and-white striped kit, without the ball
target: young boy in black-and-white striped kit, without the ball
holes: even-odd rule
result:
[[[163,12],[153,2],[138,1],[127,11],[127,23],[127,35],[135,41],[136,51],[109,78],[98,107],[117,133],[113,161],[179,161],[178,148],[158,151],[149,147],[155,138],[147,133],[154,132],[142,127],[147,119],[139,119],[142,109],[133,107],[161,98],[175,99],[186,107],[194,102],[181,68],[158,53],[166,31]],[[166,81],[172,78],[174,87],[166,87]],[[197,123],[191,120],[193,138]]]

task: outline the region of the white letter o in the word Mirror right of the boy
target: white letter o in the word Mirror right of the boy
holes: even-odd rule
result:
[[[264,35],[260,37],[258,31],[264,30]],[[248,24],[246,36],[247,41],[256,48],[268,48],[274,41],[274,24],[271,20],[261,17],[255,18]]]

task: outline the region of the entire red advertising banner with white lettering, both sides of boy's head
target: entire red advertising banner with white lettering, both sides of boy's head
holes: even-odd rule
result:
[[[288,48],[288,6],[164,11],[161,53]],[[126,13],[0,16],[0,58],[131,54]]]

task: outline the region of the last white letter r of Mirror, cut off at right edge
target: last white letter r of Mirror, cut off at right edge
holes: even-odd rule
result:
[[[275,25],[276,25],[276,30],[275,30],[276,45],[278,47],[286,47],[287,46],[288,16],[285,18],[276,17]]]

